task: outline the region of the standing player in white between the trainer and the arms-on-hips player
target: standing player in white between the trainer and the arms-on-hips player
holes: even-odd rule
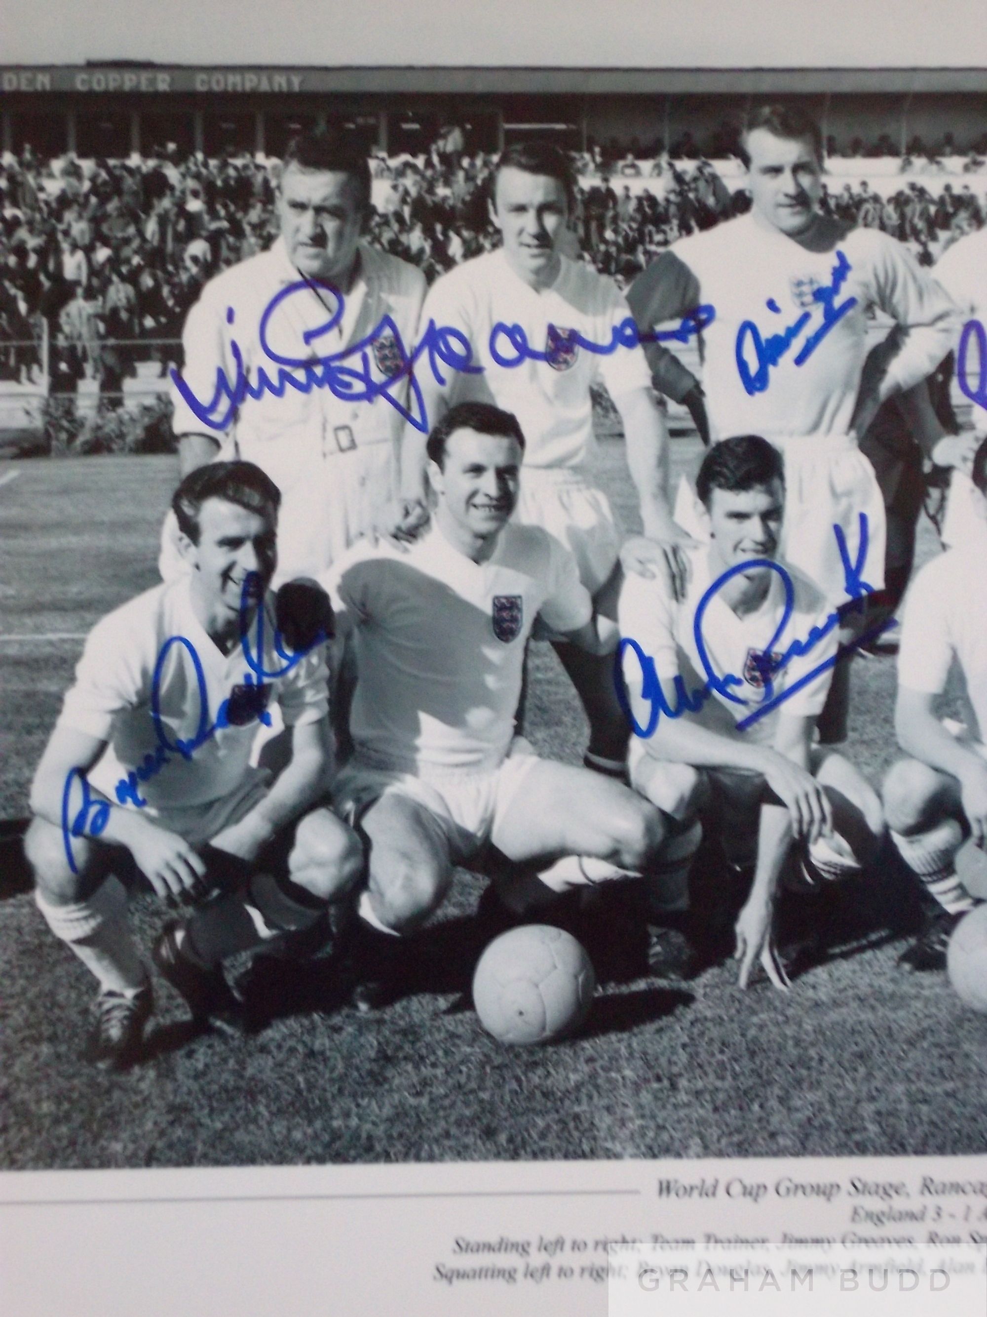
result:
[[[442,275],[422,311],[422,324],[465,336],[474,367],[449,371],[442,383],[432,373],[416,378],[433,425],[465,400],[496,403],[517,416],[526,446],[516,520],[541,525],[570,549],[597,612],[613,616],[620,536],[605,494],[586,471],[595,445],[594,383],[607,386],[624,423],[645,536],[654,541],[636,541],[641,554],[666,553],[680,578],[676,544],[686,535],[666,502],[667,433],[647,362],[633,337],[629,345],[626,335],[621,338],[628,304],[612,279],[561,250],[574,195],[571,167],[558,148],[526,142],[504,151],[491,200],[503,248]],[[408,427],[401,449],[405,525],[425,506],[425,436]],[[626,723],[608,661],[563,639],[555,649],[590,719],[587,765],[622,773]]]

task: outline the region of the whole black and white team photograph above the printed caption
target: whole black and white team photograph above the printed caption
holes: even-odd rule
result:
[[[0,54],[0,1168],[987,1151],[983,18],[164,8]]]

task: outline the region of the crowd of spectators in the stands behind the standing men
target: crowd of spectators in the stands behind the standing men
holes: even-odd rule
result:
[[[678,237],[749,204],[688,133],[666,154],[636,153],[644,149],[574,153],[574,252],[620,283]],[[446,134],[426,155],[371,163],[370,236],[429,279],[497,244],[487,208],[494,155],[463,154],[459,138]],[[0,379],[38,377],[41,321],[53,392],[75,392],[88,374],[109,398],[141,361],[163,375],[179,361],[182,325],[203,283],[272,241],[278,167],[250,155],[207,161],[174,150],[126,161],[42,161],[30,148],[4,157]],[[912,180],[883,196],[866,182],[840,187],[830,179],[824,207],[884,229],[932,263],[944,245],[982,225],[987,209],[969,183],[930,182],[932,190]]]

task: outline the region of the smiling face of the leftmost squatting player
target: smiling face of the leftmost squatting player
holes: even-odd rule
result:
[[[270,512],[251,512],[226,499],[205,499],[199,511],[199,540],[186,541],[186,556],[209,623],[221,628],[240,615],[247,578],[249,598],[263,598],[278,565],[275,535]]]

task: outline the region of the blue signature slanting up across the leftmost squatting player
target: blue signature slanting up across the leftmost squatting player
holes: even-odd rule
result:
[[[295,668],[296,664],[301,662],[305,655],[311,653],[316,645],[325,641],[326,635],[324,631],[320,631],[309,645],[297,651],[288,651],[284,648],[280,631],[275,627],[272,648],[275,653],[284,660],[284,662],[279,668],[265,668],[263,607],[258,607],[254,615],[257,622],[257,652],[251,648],[250,641],[250,623],[254,620],[250,614],[254,608],[258,581],[259,577],[257,573],[247,573],[243,579],[240,597],[240,644],[243,652],[243,660],[250,672],[243,674],[243,685],[234,687],[234,693],[238,695],[236,707],[232,707],[233,698],[228,697],[221,702],[218,710],[216,711],[216,720],[211,720],[209,694],[205,686],[205,672],[203,670],[201,658],[199,657],[195,645],[187,636],[168,636],[158,651],[158,660],[154,665],[154,676],[151,678],[150,715],[151,724],[154,726],[157,745],[153,752],[149,751],[149,753],[143,756],[141,764],[128,772],[126,777],[121,777],[118,780],[114,788],[117,805],[129,805],[134,809],[143,809],[147,805],[147,801],[143,795],[141,795],[139,784],[157,777],[158,773],[161,773],[161,770],[175,757],[184,759],[187,761],[191,760],[195,752],[207,741],[212,740],[212,738],[224,727],[247,727],[253,722],[259,722],[266,727],[270,727],[271,715],[266,709],[270,687],[265,685],[265,680],[270,681],[272,678],[284,677],[292,668]],[[182,736],[176,736],[174,739],[171,738],[161,711],[161,684],[164,673],[164,664],[175,645],[180,645],[188,655],[188,660],[195,674],[196,698],[199,701],[199,722],[195,735],[187,739]],[[72,814],[72,794],[76,782],[79,782],[82,788],[82,803]],[[72,873],[79,872],[75,864],[75,855],[72,853],[72,838],[84,835],[100,836],[105,831],[109,822],[111,807],[111,801],[101,795],[92,794],[92,789],[89,788],[88,780],[82,769],[72,768],[68,772],[62,790],[62,842],[68,860],[68,867]]]

